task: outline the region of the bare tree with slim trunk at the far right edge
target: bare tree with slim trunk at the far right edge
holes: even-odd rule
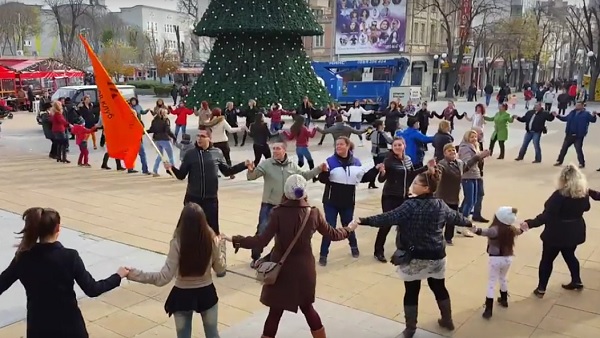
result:
[[[593,52],[590,64],[590,100],[596,100],[596,82],[600,74],[600,3],[582,2],[582,7],[569,6],[566,16],[567,24],[583,45],[585,53]],[[587,55],[586,55],[587,57]]]

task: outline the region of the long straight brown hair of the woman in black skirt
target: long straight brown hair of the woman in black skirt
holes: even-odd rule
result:
[[[179,240],[179,275],[203,276],[212,261],[215,233],[198,204],[183,207],[174,235]]]

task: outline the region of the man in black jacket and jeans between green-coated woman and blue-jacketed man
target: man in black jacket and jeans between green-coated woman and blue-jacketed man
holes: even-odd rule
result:
[[[533,141],[533,148],[535,149],[535,160],[533,163],[542,162],[542,148],[540,147],[540,139],[542,134],[547,132],[546,121],[554,120],[554,115],[548,111],[545,111],[542,108],[542,104],[538,102],[535,104],[533,110],[528,111],[521,117],[515,115],[514,118],[519,122],[525,123],[525,137],[523,138],[523,145],[521,146],[521,150],[519,150],[519,156],[515,158],[515,161],[523,160],[525,153],[527,152],[527,148],[529,147],[529,143]]]

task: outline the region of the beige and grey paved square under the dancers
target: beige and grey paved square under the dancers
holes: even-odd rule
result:
[[[145,103],[144,103],[145,104]],[[431,103],[431,109],[441,110],[443,102]],[[459,103],[459,111],[473,110],[474,103]],[[522,114],[522,111],[515,112]],[[493,111],[492,111],[493,114]],[[117,266],[134,265],[158,268],[168,249],[179,216],[184,182],[167,177],[152,178],[98,169],[102,150],[92,151],[91,169],[57,164],[47,159],[48,143],[31,114],[17,114],[3,124],[0,135],[0,208],[21,213],[31,206],[48,206],[61,212],[66,228],[61,241],[77,248],[96,278],[106,277]],[[146,121],[146,122],[149,122]],[[195,118],[188,124],[195,125]],[[437,120],[432,120],[430,132]],[[458,121],[454,131],[456,141],[469,127]],[[491,125],[486,127],[491,133]],[[600,142],[598,126],[590,126],[585,152],[590,187],[600,188]],[[563,139],[564,124],[552,122],[549,133],[542,138],[542,164],[531,164],[533,154],[523,162],[514,162],[523,136],[523,125],[510,126],[507,157],[486,161],[484,216],[491,217],[498,206],[512,205],[519,217],[529,218],[542,210],[552,192],[559,169],[552,167]],[[313,141],[313,144],[316,141]],[[75,148],[75,147],[73,147]],[[151,155],[147,145],[147,151]],[[366,166],[369,161],[368,142],[355,155]],[[323,146],[311,146],[315,162],[323,161],[332,152],[329,138]],[[289,149],[294,154],[293,146]],[[70,157],[77,155],[74,150]],[[233,147],[234,161],[251,156],[250,147]],[[292,155],[293,156],[293,155]],[[153,156],[149,156],[152,159]],[[567,161],[574,161],[573,151]],[[229,235],[252,234],[256,228],[262,183],[247,182],[245,174],[235,180],[223,179],[220,187],[220,218],[223,231]],[[323,187],[311,184],[310,201],[320,206]],[[380,212],[381,189],[357,191],[356,216]],[[456,238],[447,249],[447,285],[453,305],[457,329],[451,333],[437,327],[438,309],[433,295],[423,284],[419,304],[421,337],[434,332],[444,336],[464,338],[495,337],[600,337],[600,211],[593,204],[586,215],[587,242],[577,250],[581,262],[585,290],[568,292],[560,287],[568,282],[568,270],[557,259],[544,299],[531,296],[537,283],[537,266],[541,251],[540,230],[532,230],[517,241],[516,257],[510,271],[508,309],[494,309],[491,321],[481,318],[487,282],[486,242],[482,238]],[[8,264],[14,255],[15,236],[20,229],[18,216],[0,213],[0,263]],[[389,264],[371,258],[375,229],[359,228],[359,259],[351,258],[347,242],[334,243],[326,268],[318,267],[316,308],[323,315],[330,337],[395,337],[402,330],[402,295],[404,286]],[[120,243],[120,244],[119,244]],[[314,238],[315,252],[320,237]],[[391,237],[386,252],[393,250]],[[230,273],[215,280],[219,292],[219,322],[223,337],[259,337],[265,317],[265,307],[258,301],[260,285],[245,277],[252,275],[248,267],[250,253],[241,251],[228,256]],[[96,299],[83,299],[81,307],[88,321],[91,337],[171,337],[173,320],[163,310],[169,287],[156,288],[124,282],[122,287]],[[20,286],[0,296],[0,326],[24,317],[25,300]],[[197,337],[199,320],[196,321]],[[370,325],[369,323],[372,323]],[[352,325],[351,325],[352,324]],[[301,314],[286,314],[280,328],[283,337],[306,337],[308,328]],[[427,332],[426,332],[427,331]],[[24,323],[0,329],[0,338],[24,336]]]

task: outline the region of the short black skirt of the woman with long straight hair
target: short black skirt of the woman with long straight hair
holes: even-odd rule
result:
[[[204,312],[219,302],[214,284],[195,289],[171,289],[165,302],[165,311],[169,317],[175,312]]]

